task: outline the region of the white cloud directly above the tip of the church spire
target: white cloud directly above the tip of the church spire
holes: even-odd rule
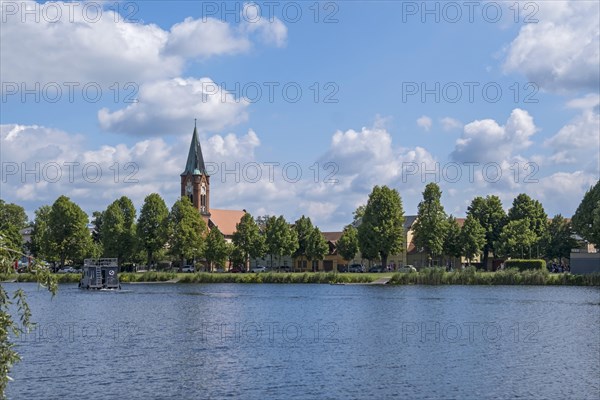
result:
[[[202,131],[220,131],[248,118],[246,99],[236,99],[209,78],[175,78],[144,84],[139,101],[114,112],[98,112],[100,127],[138,135],[187,132],[194,118]]]

